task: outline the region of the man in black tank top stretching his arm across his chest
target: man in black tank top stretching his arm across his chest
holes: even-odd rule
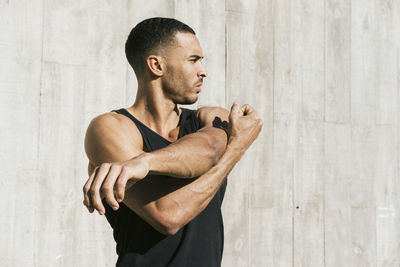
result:
[[[182,22],[144,20],[125,50],[136,100],[91,121],[84,204],[113,227],[117,266],[220,266],[226,176],[262,122],[249,105],[177,107],[195,103],[207,77],[199,41]]]

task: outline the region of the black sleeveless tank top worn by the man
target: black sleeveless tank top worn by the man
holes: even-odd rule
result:
[[[143,145],[151,152],[171,144],[125,109],[115,110],[130,118],[143,137]],[[196,132],[199,121],[194,110],[182,108],[178,138]],[[177,179],[160,176],[160,179]],[[114,211],[105,200],[105,216],[114,231],[117,243],[117,266],[220,266],[224,242],[221,205],[226,180],[208,206],[176,234],[166,236],[156,231],[126,205]]]

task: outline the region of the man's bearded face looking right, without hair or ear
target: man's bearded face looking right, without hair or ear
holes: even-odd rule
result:
[[[176,104],[193,104],[201,91],[203,78],[203,52],[199,40],[191,33],[175,34],[175,44],[166,49],[166,72],[163,89]]]

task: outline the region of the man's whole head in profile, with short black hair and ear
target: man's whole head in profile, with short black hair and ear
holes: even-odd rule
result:
[[[207,72],[200,43],[189,26],[171,18],[144,20],[129,34],[125,51],[139,81],[157,79],[174,103],[197,101]]]

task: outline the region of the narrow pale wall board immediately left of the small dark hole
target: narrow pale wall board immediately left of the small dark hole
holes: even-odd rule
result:
[[[293,266],[293,179],[296,155],[296,101],[294,86],[293,2],[274,1],[274,136],[273,177],[274,208],[270,266]]]

